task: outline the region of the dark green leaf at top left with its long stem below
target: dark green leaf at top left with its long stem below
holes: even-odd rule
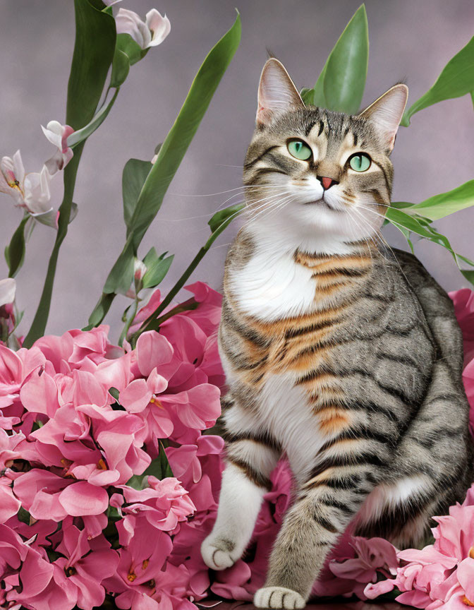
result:
[[[68,82],[66,123],[77,130],[92,120],[97,109],[114,58],[116,30],[114,18],[95,8],[88,0],[74,0],[74,8],[75,45]],[[59,208],[59,228],[49,258],[38,309],[30,332],[25,337],[25,347],[31,347],[46,330],[59,249],[68,232],[75,179],[84,144],[85,142],[82,142],[75,148],[74,157],[64,170],[64,195]]]

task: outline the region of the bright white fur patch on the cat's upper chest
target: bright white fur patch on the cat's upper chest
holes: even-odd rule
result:
[[[298,265],[291,253],[257,252],[230,283],[238,308],[261,320],[300,316],[314,307],[311,270]]]

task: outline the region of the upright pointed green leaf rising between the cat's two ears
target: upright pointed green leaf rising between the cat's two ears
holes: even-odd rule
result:
[[[358,112],[365,89],[368,61],[367,13],[362,5],[329,54],[315,84],[312,103],[346,114]]]

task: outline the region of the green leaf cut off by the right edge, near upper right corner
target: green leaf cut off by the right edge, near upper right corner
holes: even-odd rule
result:
[[[432,104],[461,97],[474,90],[474,37],[448,61],[436,83],[405,112],[401,125],[408,127],[415,112]]]

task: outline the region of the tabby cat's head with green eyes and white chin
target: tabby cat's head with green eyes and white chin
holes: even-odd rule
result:
[[[407,97],[406,85],[395,85],[358,115],[306,107],[284,66],[269,59],[243,170],[249,225],[341,241],[379,229]]]

